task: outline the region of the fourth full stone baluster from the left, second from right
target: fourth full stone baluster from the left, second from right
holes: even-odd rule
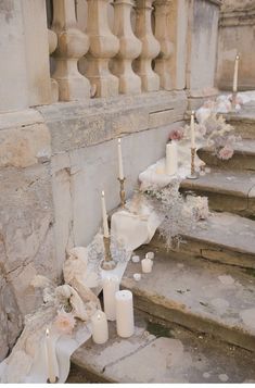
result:
[[[152,1],[137,0],[136,35],[142,42],[142,52],[135,61],[135,71],[141,77],[143,91],[160,89],[160,77],[152,70],[152,60],[161,50],[152,33]]]

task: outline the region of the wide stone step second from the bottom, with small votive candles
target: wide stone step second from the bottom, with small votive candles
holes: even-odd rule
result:
[[[133,274],[140,271],[140,264],[130,262],[122,280],[133,292],[137,309],[255,351],[254,272],[166,252],[157,252],[152,273],[136,281]]]

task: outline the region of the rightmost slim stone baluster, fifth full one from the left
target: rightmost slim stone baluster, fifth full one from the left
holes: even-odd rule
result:
[[[169,58],[174,52],[174,45],[169,40],[169,13],[173,0],[155,1],[155,38],[161,43],[160,55],[155,60],[155,72],[161,79],[161,87],[171,90]]]

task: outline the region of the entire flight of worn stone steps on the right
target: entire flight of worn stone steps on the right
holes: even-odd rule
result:
[[[140,281],[130,262],[122,288],[135,297],[136,334],[105,346],[88,341],[73,355],[68,381],[255,381],[255,115],[231,115],[244,138],[233,159],[200,150],[212,173],[181,190],[208,196],[212,216],[166,251],[155,236],[141,247],[155,263]]]

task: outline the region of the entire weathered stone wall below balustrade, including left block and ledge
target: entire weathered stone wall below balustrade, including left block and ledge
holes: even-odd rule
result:
[[[0,115],[0,360],[41,302],[33,277],[58,280],[66,249],[90,242],[102,189],[107,210],[118,205],[117,137],[130,195],[186,110],[183,91],[160,91]]]

